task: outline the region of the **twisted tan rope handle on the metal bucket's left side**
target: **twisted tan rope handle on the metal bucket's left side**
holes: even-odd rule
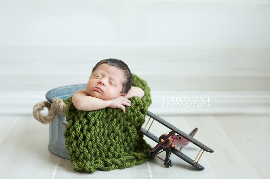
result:
[[[48,116],[43,116],[40,114],[40,111],[42,111],[44,107],[48,108],[49,110]],[[33,108],[33,116],[39,122],[48,124],[53,121],[58,109],[60,114],[65,116],[66,104],[63,99],[55,98],[52,102],[52,105],[50,105],[47,101],[42,101],[35,104]]]

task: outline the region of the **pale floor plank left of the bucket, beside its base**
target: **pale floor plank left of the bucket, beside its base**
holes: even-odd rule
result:
[[[58,157],[48,150],[49,126],[21,115],[0,146],[0,178],[52,178]]]

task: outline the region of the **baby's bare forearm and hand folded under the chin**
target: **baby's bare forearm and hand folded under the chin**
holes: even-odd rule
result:
[[[78,90],[72,97],[72,103],[75,108],[81,111],[94,111],[97,109],[121,108],[125,112],[125,106],[130,106],[130,101],[124,97],[119,97],[111,100],[104,100],[89,96],[86,89]]]

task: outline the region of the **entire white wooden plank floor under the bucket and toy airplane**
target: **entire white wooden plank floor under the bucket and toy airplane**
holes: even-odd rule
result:
[[[155,158],[124,170],[78,172],[69,160],[49,152],[49,125],[19,114],[0,115],[0,178],[270,178],[269,115],[161,117],[186,133],[198,127],[194,138],[214,150],[200,159],[204,170],[172,154],[173,167],[169,168]],[[150,131],[156,135],[170,132],[157,122]],[[198,151],[193,144],[182,149],[192,159]]]

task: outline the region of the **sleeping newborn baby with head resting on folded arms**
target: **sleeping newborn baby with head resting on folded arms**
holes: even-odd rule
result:
[[[72,97],[73,105],[82,111],[121,108],[130,106],[129,98],[141,99],[144,91],[133,87],[129,67],[121,60],[105,59],[96,64],[92,70],[86,89],[78,90]]]

